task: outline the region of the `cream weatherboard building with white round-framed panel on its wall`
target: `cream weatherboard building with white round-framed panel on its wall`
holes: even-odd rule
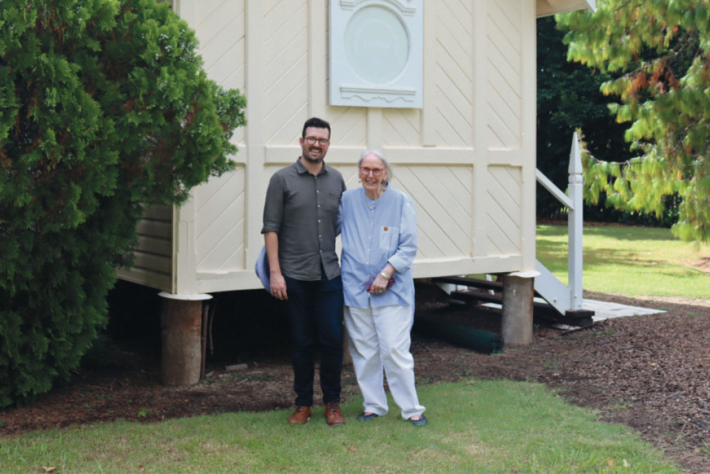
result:
[[[535,19],[583,8],[594,0],[174,0],[249,123],[236,171],[148,210],[119,277],[176,299],[260,288],[266,186],[312,116],[331,123],[326,161],[348,188],[362,150],[391,162],[417,208],[415,277],[534,274]]]

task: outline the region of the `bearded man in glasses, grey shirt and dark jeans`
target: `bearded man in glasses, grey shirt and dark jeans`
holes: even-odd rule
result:
[[[301,156],[271,177],[263,228],[271,271],[271,294],[286,301],[296,409],[288,422],[311,419],[315,352],[320,345],[320,387],[331,426],[344,424],[340,413],[343,362],[343,286],[335,237],[345,182],[323,158],[330,125],[311,118],[303,125]]]

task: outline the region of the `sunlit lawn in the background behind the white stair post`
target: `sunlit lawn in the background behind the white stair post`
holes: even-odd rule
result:
[[[567,283],[567,226],[537,226],[537,259]],[[626,296],[708,298],[710,274],[692,262],[710,259],[710,246],[674,239],[668,229],[584,227],[585,290]]]

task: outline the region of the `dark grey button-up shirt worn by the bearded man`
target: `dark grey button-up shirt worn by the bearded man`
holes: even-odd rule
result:
[[[271,176],[266,190],[261,233],[278,233],[281,273],[305,281],[320,280],[321,265],[327,278],[340,274],[335,253],[343,176],[323,163],[313,176],[300,162]]]

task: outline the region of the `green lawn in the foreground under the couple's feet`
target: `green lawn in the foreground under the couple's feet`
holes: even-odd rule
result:
[[[496,356],[491,356],[496,357]],[[393,410],[345,426],[322,408],[119,422],[0,440],[0,472],[58,473],[678,473],[626,426],[596,421],[540,384],[469,381],[420,387],[428,426]]]

